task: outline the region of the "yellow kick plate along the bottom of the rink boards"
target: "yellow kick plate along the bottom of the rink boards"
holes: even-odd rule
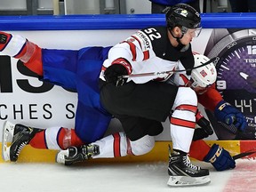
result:
[[[213,143],[218,143],[221,147],[227,149],[231,156],[248,151],[251,149],[256,150],[256,140],[206,140],[207,144],[212,146]],[[2,144],[2,143],[1,143]],[[104,163],[136,163],[136,162],[167,162],[168,161],[168,146],[172,145],[167,141],[156,141],[155,148],[153,148],[148,154],[143,156],[124,156],[117,158],[102,158],[92,159],[88,163],[104,162]],[[2,153],[2,147],[1,147]],[[29,145],[23,148],[20,153],[18,163],[54,163],[56,150],[48,149],[36,149]],[[256,157],[256,153],[244,158]],[[0,163],[5,163],[0,158]]]

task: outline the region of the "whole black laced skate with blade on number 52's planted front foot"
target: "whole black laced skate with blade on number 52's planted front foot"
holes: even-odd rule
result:
[[[169,186],[195,186],[209,183],[209,170],[201,169],[190,163],[185,152],[173,149],[169,160],[168,174]]]

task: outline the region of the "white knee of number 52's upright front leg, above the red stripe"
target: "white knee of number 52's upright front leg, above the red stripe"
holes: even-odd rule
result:
[[[173,108],[180,105],[197,106],[196,92],[189,87],[180,87],[177,92]]]

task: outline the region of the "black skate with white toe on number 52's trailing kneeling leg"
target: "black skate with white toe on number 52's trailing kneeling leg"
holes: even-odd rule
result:
[[[61,150],[56,156],[56,162],[65,165],[84,162],[84,160],[92,158],[100,154],[98,145],[83,145],[80,147],[70,147],[66,150]]]

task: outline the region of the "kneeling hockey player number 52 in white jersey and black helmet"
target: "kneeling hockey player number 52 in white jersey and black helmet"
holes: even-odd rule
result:
[[[188,157],[196,126],[196,92],[190,87],[168,84],[166,81],[172,73],[122,78],[194,67],[190,42],[201,30],[199,13],[188,4],[177,4],[166,13],[166,21],[167,27],[145,28],[116,44],[103,63],[100,101],[123,126],[124,133],[116,135],[121,140],[120,149],[111,150],[115,140],[107,137],[80,148],[78,154],[84,158],[94,156],[93,151],[100,153],[98,157],[114,157],[115,153],[119,156],[146,154],[154,147],[154,136],[163,130],[161,122],[172,113],[173,151],[168,172],[173,181],[169,185],[201,185],[210,182],[209,171],[191,164]],[[190,76],[191,71],[185,75]],[[57,161],[64,159],[64,163],[71,163],[81,157],[76,155],[77,150],[68,148],[68,154],[60,153]]]

